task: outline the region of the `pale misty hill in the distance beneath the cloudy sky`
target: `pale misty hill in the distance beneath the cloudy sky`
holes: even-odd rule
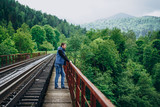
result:
[[[117,14],[106,19],[100,19],[95,22],[81,25],[87,30],[93,29],[105,29],[117,27],[122,31],[133,30],[137,37],[145,35],[148,31],[160,30],[160,17],[155,16],[143,16],[134,17],[127,14]]]

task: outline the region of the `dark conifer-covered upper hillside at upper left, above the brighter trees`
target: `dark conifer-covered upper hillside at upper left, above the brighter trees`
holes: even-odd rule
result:
[[[15,0],[1,0],[0,3],[0,25],[6,26],[9,21],[12,22],[14,29],[21,27],[26,23],[31,28],[34,25],[50,25],[57,28],[66,37],[76,33],[84,34],[85,29],[80,26],[69,24],[66,20],[59,19],[56,16],[42,13],[24,6]]]

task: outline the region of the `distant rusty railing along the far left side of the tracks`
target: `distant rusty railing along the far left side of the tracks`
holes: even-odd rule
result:
[[[23,61],[26,59],[34,58],[45,54],[46,52],[0,55],[0,67],[4,67],[19,61]]]

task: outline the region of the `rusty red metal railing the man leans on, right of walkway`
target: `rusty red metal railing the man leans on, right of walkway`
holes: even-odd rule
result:
[[[66,66],[64,66],[64,71],[72,101],[76,107],[96,107],[97,101],[102,107],[114,107],[111,101],[73,63],[67,62]],[[89,98],[86,97],[86,94],[89,94],[86,93],[86,88],[90,91]]]

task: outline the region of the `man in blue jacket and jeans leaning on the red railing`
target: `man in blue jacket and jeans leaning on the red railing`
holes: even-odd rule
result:
[[[61,46],[57,49],[55,67],[56,67],[56,77],[55,77],[55,89],[60,89],[58,87],[58,79],[61,75],[61,88],[66,89],[68,87],[64,86],[65,73],[63,70],[63,65],[66,65],[66,61],[70,62],[67,56],[65,55],[66,44],[61,43]]]

